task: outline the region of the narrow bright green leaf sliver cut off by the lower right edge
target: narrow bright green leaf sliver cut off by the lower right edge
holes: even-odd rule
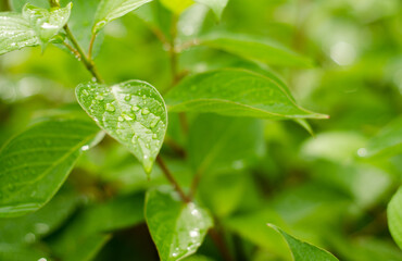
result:
[[[392,197],[387,209],[389,231],[402,249],[402,187]]]

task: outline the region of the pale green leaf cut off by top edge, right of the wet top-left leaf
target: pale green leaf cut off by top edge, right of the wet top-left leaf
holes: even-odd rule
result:
[[[138,9],[152,0],[102,0],[99,3],[92,33],[97,34],[108,23]]]

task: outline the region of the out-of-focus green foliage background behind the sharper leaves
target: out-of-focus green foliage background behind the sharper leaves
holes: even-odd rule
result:
[[[1,4],[8,10],[7,1]],[[168,11],[158,2],[151,5],[160,9],[159,25],[168,33],[169,20],[163,18]],[[168,53],[150,29],[150,22],[142,18],[149,10],[143,7],[111,23],[98,39],[103,44],[96,63],[106,83],[142,79],[162,92],[171,85]],[[178,32],[180,42],[211,33],[253,35],[312,58],[315,66],[311,69],[267,67],[194,47],[181,53],[179,67],[188,74],[228,66],[269,70],[288,84],[299,104],[330,115],[329,120],[311,121],[315,138],[293,122],[257,121],[251,134],[240,130],[233,139],[252,135],[259,148],[244,161],[236,161],[201,183],[199,200],[219,217],[237,259],[289,260],[289,252],[264,231],[266,222],[277,221],[340,260],[401,261],[402,252],[388,232],[386,208],[401,185],[402,156],[376,160],[364,156],[370,138],[387,124],[401,121],[402,2],[230,0],[219,23],[208,9],[196,4],[181,15]],[[45,53],[40,48],[25,48],[0,57],[0,145],[39,117],[79,111],[74,88],[90,80],[74,55],[55,46]],[[189,115],[188,138],[179,130],[177,115],[169,116],[167,139],[185,148],[188,139],[204,135],[191,130],[197,129],[192,124],[221,121]],[[168,164],[179,182],[188,185],[189,164],[169,147],[165,146],[163,153],[169,156]],[[140,206],[148,187],[165,183],[158,169],[148,181],[135,158],[105,138],[80,159],[54,198],[64,201],[49,204],[54,208],[50,213],[61,215],[54,217],[56,224],[43,233],[24,231],[24,244],[17,246],[45,252],[50,248],[55,253],[63,248],[75,251],[80,226],[92,229],[88,227],[96,227],[99,216],[113,212],[108,208],[116,208],[122,213],[120,224],[111,225],[118,228],[113,237],[83,240],[104,246],[98,254],[93,250],[96,260],[158,260]],[[133,202],[138,204],[133,207]],[[60,206],[64,212],[58,211]],[[13,237],[21,237],[14,235],[18,234],[16,224],[28,226],[29,222],[15,221],[13,226],[0,221],[0,251],[12,252],[7,247],[14,243]],[[99,222],[99,226],[108,225]],[[66,231],[71,235],[65,235]],[[199,252],[221,260],[209,238]]]

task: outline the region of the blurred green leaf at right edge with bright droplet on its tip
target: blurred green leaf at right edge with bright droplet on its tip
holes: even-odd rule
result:
[[[357,151],[363,158],[391,158],[402,153],[402,117],[384,127],[368,140],[367,147]]]

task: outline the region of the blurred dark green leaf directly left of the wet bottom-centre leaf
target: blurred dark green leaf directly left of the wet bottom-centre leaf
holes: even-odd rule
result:
[[[87,207],[52,238],[52,251],[66,261],[90,260],[110,239],[106,233],[143,222],[143,195],[127,195]]]

